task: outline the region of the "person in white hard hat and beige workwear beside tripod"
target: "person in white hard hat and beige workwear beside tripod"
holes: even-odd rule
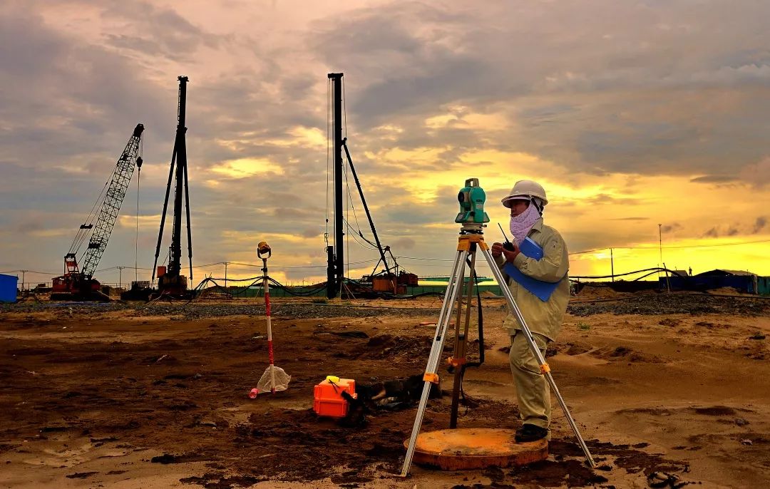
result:
[[[502,203],[511,209],[511,233],[514,240],[511,245],[492,245],[491,252],[497,265],[504,270],[506,263],[512,263],[524,276],[544,282],[545,286],[552,288],[550,296],[543,300],[544,294],[538,297],[527,290],[526,286],[506,275],[511,294],[521,310],[534,342],[545,357],[547,344],[555,341],[561,330],[570,297],[567,245],[556,229],[543,223],[543,209],[548,199],[540,184],[531,180],[520,180],[511,189],[511,193],[502,199]],[[521,253],[520,247],[527,237],[542,250],[540,260]],[[532,244],[524,243],[524,246],[525,249],[531,249]],[[520,274],[516,275],[521,277]],[[522,283],[527,282],[525,279],[519,280]],[[532,289],[531,286],[530,288]],[[540,440],[547,437],[548,425],[551,422],[551,393],[547,380],[521,331],[521,325],[512,313],[505,318],[503,327],[511,335],[511,353],[508,358],[522,420],[521,428],[516,431],[516,440],[520,443]]]

